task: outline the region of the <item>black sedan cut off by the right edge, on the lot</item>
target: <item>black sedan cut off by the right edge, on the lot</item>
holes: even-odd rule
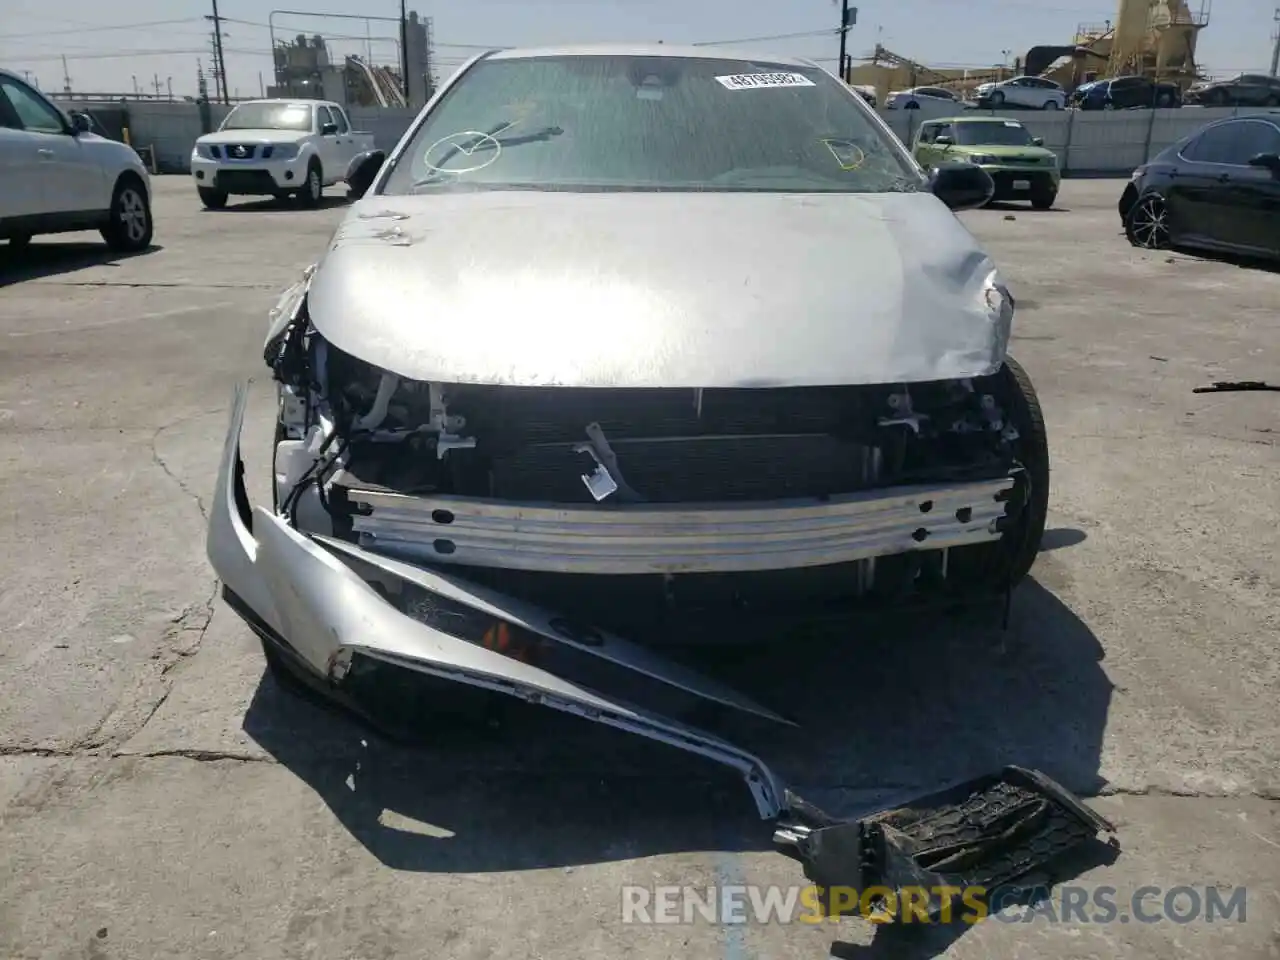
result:
[[[1134,170],[1119,206],[1135,247],[1280,260],[1280,110],[1202,127]]]

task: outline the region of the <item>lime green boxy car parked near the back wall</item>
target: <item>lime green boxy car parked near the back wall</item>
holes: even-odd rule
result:
[[[1004,116],[952,116],[927,120],[911,154],[925,170],[943,161],[977,164],[996,182],[992,200],[1029,200],[1048,210],[1062,174],[1057,155],[1018,120]]]

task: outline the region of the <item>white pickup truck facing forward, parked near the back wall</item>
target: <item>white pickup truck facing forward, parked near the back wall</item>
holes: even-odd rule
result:
[[[372,133],[351,129],[347,111],[328,100],[248,100],[215,133],[196,141],[191,175],[210,210],[229,195],[297,196],[320,202],[347,165],[374,148]]]

